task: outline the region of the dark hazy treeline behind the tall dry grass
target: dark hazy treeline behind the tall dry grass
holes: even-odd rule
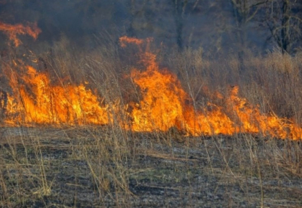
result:
[[[274,47],[294,54],[302,44],[302,2],[296,0],[6,0],[0,1],[0,20],[37,21],[40,42],[63,33],[90,47],[92,35],[128,35],[179,50],[239,51],[240,58],[246,50]]]

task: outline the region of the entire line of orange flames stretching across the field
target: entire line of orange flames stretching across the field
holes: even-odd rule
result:
[[[116,119],[116,123],[135,132],[165,132],[177,128],[193,136],[247,133],[301,139],[299,125],[273,113],[261,112],[258,106],[238,96],[237,86],[230,89],[228,96],[215,94],[223,106],[208,102],[195,108],[177,76],[168,69],[160,69],[156,55],[150,52],[150,41],[120,39],[123,47],[127,44],[139,47],[143,69],[132,69],[130,73],[141,92],[139,102],[122,107],[118,107],[118,101],[105,105],[85,85],[52,85],[47,73],[28,66],[22,76],[10,74],[13,94],[7,96],[7,102],[2,101],[6,106],[6,125],[107,125],[114,122],[113,114],[126,114],[127,121]]]

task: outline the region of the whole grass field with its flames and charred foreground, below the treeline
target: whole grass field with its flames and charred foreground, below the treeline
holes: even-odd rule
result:
[[[150,44],[1,60],[0,206],[301,207],[301,55]]]

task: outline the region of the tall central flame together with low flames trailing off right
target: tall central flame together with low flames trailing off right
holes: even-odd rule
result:
[[[203,109],[194,109],[190,98],[177,77],[167,69],[159,69],[156,55],[148,51],[150,39],[146,40],[146,50],[142,52],[143,40],[121,37],[121,46],[137,44],[145,71],[132,69],[131,77],[143,92],[139,103],[133,106],[132,130],[167,131],[176,127],[187,135],[234,135],[238,133],[262,134],[278,138],[300,139],[302,129],[274,114],[263,114],[258,106],[253,106],[245,98],[238,96],[238,86],[231,89],[229,97],[217,93],[217,99],[227,106],[208,103]]]

